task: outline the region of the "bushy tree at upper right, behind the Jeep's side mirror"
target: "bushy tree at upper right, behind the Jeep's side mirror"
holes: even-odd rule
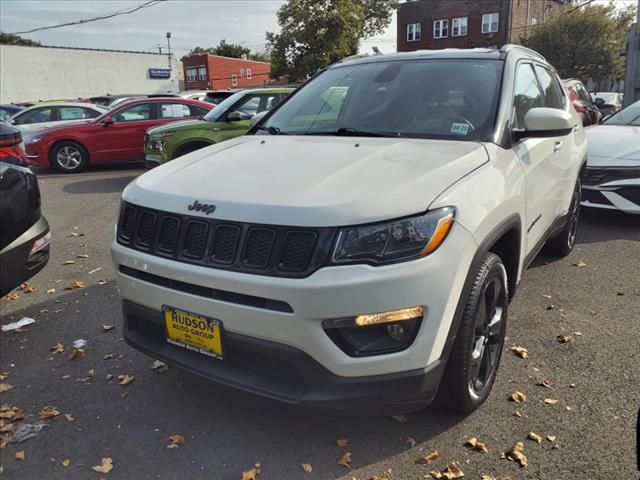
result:
[[[620,53],[634,17],[634,9],[617,10],[613,3],[567,8],[520,41],[544,55],[562,78],[619,80],[624,76]]]

